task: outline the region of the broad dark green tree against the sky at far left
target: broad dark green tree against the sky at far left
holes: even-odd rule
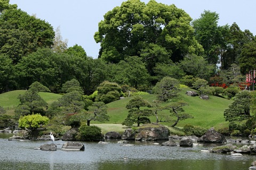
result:
[[[52,26],[20,9],[4,10],[0,15],[0,25],[0,53],[9,56],[13,63],[39,47],[53,45]]]

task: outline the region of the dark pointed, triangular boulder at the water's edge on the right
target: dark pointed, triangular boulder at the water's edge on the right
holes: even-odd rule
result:
[[[214,128],[209,129],[201,138],[198,138],[198,142],[215,142],[223,143],[227,142],[224,135],[214,130]]]

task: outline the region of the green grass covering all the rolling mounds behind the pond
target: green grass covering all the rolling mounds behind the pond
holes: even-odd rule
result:
[[[199,97],[190,97],[186,95],[187,90],[192,90],[189,88],[183,88],[179,93],[179,100],[186,101],[189,105],[184,106],[185,113],[192,115],[194,118],[189,118],[187,120],[179,121],[177,127],[183,127],[185,124],[191,124],[194,126],[201,126],[203,128],[223,128],[228,125],[223,117],[223,112],[228,108],[232,100],[225,98],[220,98],[216,96],[210,96],[209,100],[202,100]],[[0,94],[0,106],[5,109],[9,108],[12,110],[14,107],[19,105],[19,99],[17,98],[19,94],[23,94],[25,90],[14,90]],[[61,97],[58,94],[52,94],[49,92],[40,92],[39,95],[50,105],[53,101]],[[143,95],[144,99],[149,102],[153,101],[155,95]],[[121,100],[114,101],[107,104],[108,115],[110,116],[110,121],[105,122],[105,124],[122,124],[124,119],[128,114],[128,109],[125,108],[126,104],[131,98],[124,98]],[[169,111],[158,112],[158,115],[170,115]],[[150,117],[151,122],[156,122],[155,116]],[[92,121],[92,124],[99,124],[100,122]],[[101,123],[102,124],[102,123]],[[172,123],[161,122],[163,125],[170,126]]]

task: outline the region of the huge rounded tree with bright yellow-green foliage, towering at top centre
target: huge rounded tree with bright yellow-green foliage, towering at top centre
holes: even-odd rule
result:
[[[126,1],[104,15],[94,39],[101,43],[99,57],[118,63],[127,56],[143,57],[147,66],[182,54],[201,53],[193,36],[190,16],[175,5],[154,0]]]

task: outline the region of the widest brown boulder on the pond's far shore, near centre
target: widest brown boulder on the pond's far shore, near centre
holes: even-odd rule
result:
[[[168,140],[170,130],[160,124],[143,124],[135,134],[135,140],[154,141],[154,140]]]

